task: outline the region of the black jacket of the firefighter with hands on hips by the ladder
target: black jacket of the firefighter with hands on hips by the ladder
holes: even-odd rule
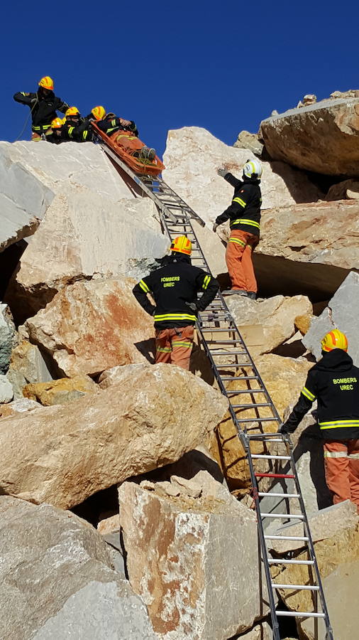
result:
[[[193,267],[186,255],[168,257],[167,264],[144,277],[133,295],[150,316],[154,316],[156,329],[172,329],[188,326],[197,321],[197,311],[192,311],[186,302],[195,302],[199,311],[204,311],[219,290],[219,283],[209,273]],[[203,292],[197,301],[197,293]],[[155,306],[148,299],[150,294]]]

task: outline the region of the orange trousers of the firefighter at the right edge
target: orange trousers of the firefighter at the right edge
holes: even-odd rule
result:
[[[349,499],[359,510],[359,440],[326,440],[324,466],[333,503]]]

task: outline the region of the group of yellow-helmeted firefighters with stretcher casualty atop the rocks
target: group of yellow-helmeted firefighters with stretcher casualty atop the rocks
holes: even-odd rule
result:
[[[131,137],[123,136],[121,144],[128,154],[143,160],[153,161],[155,149],[149,149],[138,139],[138,129],[133,120],[119,118],[112,112],[106,113],[104,107],[94,107],[91,112],[81,117],[77,107],[70,107],[67,102],[57,97],[53,91],[53,78],[45,75],[38,82],[38,90],[34,93],[19,91],[13,99],[31,109],[31,140],[46,140],[54,144],[60,142],[91,142],[92,125],[95,121],[99,129],[106,135],[114,136],[116,132],[131,132]],[[57,111],[65,114],[60,118]]]

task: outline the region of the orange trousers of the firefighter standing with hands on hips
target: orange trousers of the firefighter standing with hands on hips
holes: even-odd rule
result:
[[[156,363],[176,364],[189,370],[193,346],[194,326],[180,326],[175,329],[156,329]]]

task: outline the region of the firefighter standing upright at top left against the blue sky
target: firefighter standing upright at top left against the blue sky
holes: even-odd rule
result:
[[[66,102],[55,96],[53,79],[48,75],[45,78],[41,78],[38,85],[39,88],[36,93],[19,91],[13,96],[13,100],[21,102],[22,105],[28,105],[31,109],[31,140],[34,142],[45,139],[47,134],[51,134],[51,122],[57,117],[57,111],[65,113],[69,108]]]

